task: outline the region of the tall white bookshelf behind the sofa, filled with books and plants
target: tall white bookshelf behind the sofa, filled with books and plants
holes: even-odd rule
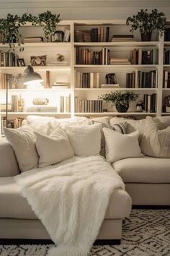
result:
[[[71,95],[71,111],[69,113],[61,113],[61,112],[9,112],[9,117],[12,116],[27,116],[28,114],[40,114],[40,115],[52,115],[62,117],[69,116],[137,116],[139,118],[143,118],[143,116],[151,115],[151,116],[161,116],[161,115],[169,115],[168,113],[162,112],[162,100],[165,95],[170,94],[169,88],[162,88],[163,83],[163,71],[167,69],[170,71],[170,64],[165,65],[163,62],[164,59],[164,47],[170,48],[170,42],[164,42],[164,36],[159,39],[158,35],[153,34],[153,38],[151,42],[141,42],[140,34],[135,33],[134,41],[120,41],[120,42],[74,42],[74,31],[75,30],[86,30],[93,27],[101,27],[108,26],[110,29],[109,32],[109,40],[112,37],[112,34],[118,33],[129,33],[130,27],[125,25],[125,20],[66,20],[61,21],[58,24],[57,30],[65,30],[69,28],[71,30],[71,40],[68,43],[24,43],[24,51],[19,52],[19,47],[15,44],[15,52],[19,55],[19,58],[24,58],[25,67],[0,67],[0,74],[10,73],[10,74],[18,74],[24,72],[24,69],[27,68],[27,65],[30,64],[30,56],[42,56],[47,55],[47,63],[50,61],[56,60],[56,54],[63,54],[65,56],[66,61],[68,61],[68,65],[63,66],[39,66],[34,67],[35,72],[41,74],[45,85],[46,71],[50,71],[51,81],[54,82],[68,82],[70,84],[70,88],[58,88],[58,89],[45,89],[45,88],[37,88],[37,89],[11,89],[9,90],[9,102],[11,95],[19,95],[21,94],[24,97],[35,98],[38,95],[40,97],[45,98],[55,98],[58,101],[60,95]],[[38,27],[31,27],[29,23],[21,28],[23,37],[24,35],[33,36],[38,34]],[[40,27],[40,36],[42,36],[42,27]],[[92,65],[92,64],[76,64],[76,47],[79,48],[90,48],[94,50],[98,50],[101,48],[108,48],[111,52],[111,56],[116,57],[129,57],[130,51],[133,48],[143,48],[143,49],[158,49],[158,64],[152,65],[138,65],[138,64],[107,64],[107,65]],[[8,51],[9,45],[0,43],[1,51]],[[133,72],[135,69],[138,69],[143,72],[149,72],[151,70],[158,70],[158,88],[125,88],[125,74],[128,72]],[[117,79],[119,80],[120,88],[76,88],[76,75],[75,71],[78,72],[99,72],[99,85],[104,83],[104,76],[107,73],[115,72],[117,75]],[[118,113],[115,111],[115,108],[111,106],[107,106],[107,112],[102,113],[75,113],[74,106],[74,98],[79,96],[82,100],[95,100],[102,93],[109,93],[111,91],[120,90],[120,91],[134,91],[135,93],[139,93],[139,100],[143,99],[144,93],[156,93],[157,94],[157,111],[156,113],[149,112],[136,112],[135,104],[130,104],[129,111],[126,113]],[[0,101],[1,103],[5,103],[6,90],[0,90]],[[104,107],[105,108],[105,107]],[[4,116],[4,113],[1,112],[1,116]],[[141,116],[141,117],[140,117]]]

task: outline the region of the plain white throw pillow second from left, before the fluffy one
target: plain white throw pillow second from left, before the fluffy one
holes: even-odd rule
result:
[[[73,157],[73,149],[66,132],[57,127],[50,136],[35,132],[37,153],[40,156],[39,167],[50,166]]]

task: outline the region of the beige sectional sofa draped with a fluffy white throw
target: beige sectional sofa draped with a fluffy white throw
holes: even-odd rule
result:
[[[170,117],[160,119],[166,127],[170,126]],[[140,135],[146,121],[117,117],[95,120],[109,125],[127,121],[127,132],[139,129]],[[50,239],[14,182],[19,168],[14,151],[5,138],[0,139],[0,163],[0,239]],[[97,239],[121,239],[122,219],[129,216],[132,202],[133,205],[170,205],[169,158],[125,158],[115,161],[112,166],[125,182],[126,191],[115,189],[110,197]]]

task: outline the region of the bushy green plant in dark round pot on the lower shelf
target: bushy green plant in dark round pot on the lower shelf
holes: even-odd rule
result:
[[[138,94],[133,92],[121,93],[120,91],[105,93],[100,98],[107,103],[111,102],[116,107],[118,112],[127,112],[130,102],[136,101]]]

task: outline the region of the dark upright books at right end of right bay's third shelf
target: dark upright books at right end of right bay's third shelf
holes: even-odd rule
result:
[[[158,88],[158,70],[141,72],[136,69],[127,73],[126,88]]]

